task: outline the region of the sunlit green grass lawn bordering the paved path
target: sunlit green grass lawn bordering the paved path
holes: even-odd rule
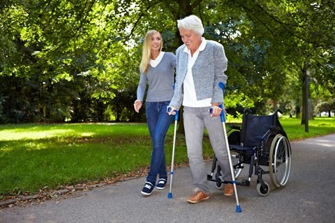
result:
[[[290,141],[335,132],[335,118],[310,120],[309,132],[300,122],[281,118]],[[172,123],[166,137],[167,164],[171,162],[173,128]],[[150,155],[145,123],[0,125],[0,199],[136,173],[149,167]],[[204,155],[213,157],[206,135]],[[177,135],[174,162],[188,162],[183,135]]]

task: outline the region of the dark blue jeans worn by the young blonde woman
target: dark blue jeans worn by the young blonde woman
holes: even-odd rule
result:
[[[159,178],[168,178],[165,167],[164,143],[166,132],[168,132],[173,118],[166,112],[169,104],[170,101],[145,103],[147,123],[153,145],[147,181],[154,185],[156,185],[157,175]]]

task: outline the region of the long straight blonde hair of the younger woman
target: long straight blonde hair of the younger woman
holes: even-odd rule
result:
[[[149,30],[147,31],[147,33],[145,34],[144,37],[144,43],[143,43],[143,52],[142,52],[142,61],[140,64],[140,69],[142,70],[142,72],[144,74],[147,73],[148,68],[149,68],[149,64],[150,64],[150,58],[151,58],[151,38],[152,36],[154,36],[156,33],[159,33],[159,35],[161,36],[161,47],[160,47],[160,51],[162,51],[163,48],[163,38],[160,32],[156,31],[156,30]]]

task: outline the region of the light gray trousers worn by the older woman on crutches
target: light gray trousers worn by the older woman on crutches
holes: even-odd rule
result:
[[[223,180],[232,180],[228,161],[226,141],[220,116],[210,117],[209,107],[184,107],[184,127],[187,155],[193,176],[193,185],[209,194],[209,183],[202,155],[204,128],[207,129],[209,141],[218,158]]]

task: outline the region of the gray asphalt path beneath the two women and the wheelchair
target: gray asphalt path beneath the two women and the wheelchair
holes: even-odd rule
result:
[[[266,197],[251,187],[237,186],[242,212],[236,213],[234,197],[224,197],[211,182],[211,198],[197,204],[186,199],[192,194],[191,171],[174,169],[172,199],[169,185],[142,197],[145,178],[106,185],[60,201],[14,206],[0,211],[0,222],[334,222],[335,134],[292,142],[292,169],[286,186],[270,185]],[[211,164],[207,164],[211,168]],[[245,176],[246,170],[242,173]]]

